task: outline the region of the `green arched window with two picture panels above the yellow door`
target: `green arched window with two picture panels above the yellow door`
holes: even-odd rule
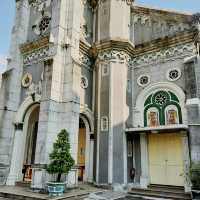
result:
[[[182,124],[179,99],[171,91],[152,93],[144,103],[144,126]]]

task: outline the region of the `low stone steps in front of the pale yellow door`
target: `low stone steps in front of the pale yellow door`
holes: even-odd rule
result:
[[[129,194],[174,200],[192,199],[191,193],[185,193],[184,188],[178,186],[150,185],[147,189],[132,188]]]

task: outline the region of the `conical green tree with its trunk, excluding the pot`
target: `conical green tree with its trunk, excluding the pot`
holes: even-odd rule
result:
[[[68,174],[75,163],[70,154],[69,134],[65,129],[58,134],[49,158],[50,163],[47,165],[47,172],[57,174],[57,182],[60,182],[61,175],[63,173]]]

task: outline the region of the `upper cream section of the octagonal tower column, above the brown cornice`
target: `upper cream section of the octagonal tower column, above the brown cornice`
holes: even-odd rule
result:
[[[132,0],[107,0],[100,2],[98,8],[98,40],[110,38],[128,40],[130,38],[130,5],[132,3]]]

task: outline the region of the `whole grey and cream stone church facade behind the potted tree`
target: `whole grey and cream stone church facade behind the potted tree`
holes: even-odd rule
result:
[[[0,183],[45,187],[58,132],[68,183],[182,186],[200,161],[198,19],[133,0],[16,0],[0,93]]]

